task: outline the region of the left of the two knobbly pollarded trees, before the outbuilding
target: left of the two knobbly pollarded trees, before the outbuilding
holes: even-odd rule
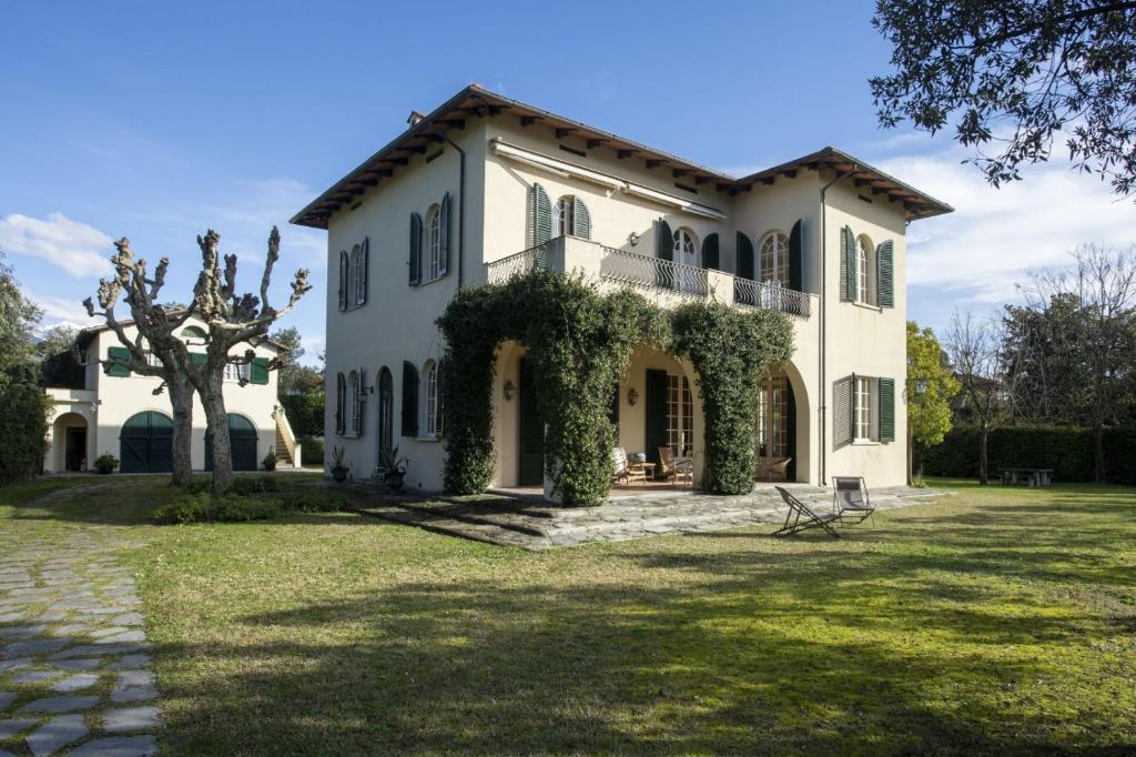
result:
[[[166,282],[169,258],[161,258],[153,272],[147,275],[145,260],[134,258],[130,240],[125,236],[115,242],[118,250],[110,258],[115,266],[114,278],[100,278],[98,300],[101,310],[95,310],[92,298],[83,300],[87,315],[100,316],[126,348],[126,366],[144,376],[157,376],[162,383],[153,391],[160,394],[169,390],[169,401],[174,410],[174,475],[175,486],[190,482],[193,468],[190,461],[190,439],[193,430],[193,386],[187,375],[179,371],[179,352],[185,346],[175,335],[177,328],[192,315],[192,308],[169,307],[158,303],[158,294]],[[126,335],[125,325],[115,316],[115,303],[125,296],[126,305],[134,322],[134,339]],[[151,365],[147,353],[158,357],[160,366]],[[122,365],[118,359],[100,360],[103,371]]]

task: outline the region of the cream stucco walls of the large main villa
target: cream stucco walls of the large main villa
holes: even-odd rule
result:
[[[719,234],[722,273],[710,272],[715,299],[732,301],[736,271],[735,232],[743,231],[760,250],[762,238],[771,231],[788,233],[796,221],[802,222],[804,261],[803,283],[813,293],[812,314],[793,317],[795,352],[785,366],[797,404],[797,479],[820,483],[833,474],[864,475],[869,485],[902,483],[905,472],[907,433],[903,405],[905,375],[905,277],[904,216],[902,208],[887,202],[885,196],[871,197],[871,203],[858,199],[851,180],[836,183],[826,192],[821,189],[833,175],[800,169],[795,176],[780,176],[775,183],[755,184],[750,191],[729,194],[716,189],[712,181],[694,184],[688,177],[674,177],[667,166],[648,168],[642,157],[619,159],[605,148],[588,150],[582,140],[570,135],[558,140],[549,127],[520,125],[511,116],[469,118],[466,127],[451,132],[466,150],[466,235],[463,283],[478,284],[486,280],[486,263],[506,258],[532,246],[529,188],[540,182],[550,198],[575,194],[591,213],[592,241],[567,240],[553,246],[550,259],[554,269],[580,268],[598,280],[602,247],[654,256],[655,228],[660,218],[673,230],[687,226],[700,246],[707,234]],[[722,219],[676,210],[674,207],[633,197],[619,191],[608,192],[594,183],[507,159],[492,150],[494,140],[533,150],[592,170],[619,176],[644,186],[709,206],[722,211]],[[586,156],[562,150],[583,150]],[[367,402],[364,434],[360,439],[335,435],[334,397],[337,372],[345,375],[362,368],[365,384],[374,386],[378,369],[391,369],[394,384],[394,443],[411,458],[407,481],[412,486],[438,489],[442,484],[443,449],[433,440],[408,439],[399,434],[402,397],[402,361],[412,361],[419,371],[428,359],[441,357],[443,346],[434,325],[458,286],[457,240],[459,236],[458,205],[460,194],[459,156],[451,145],[431,163],[424,156],[410,159],[393,178],[369,189],[352,209],[336,213],[328,222],[327,292],[327,450],[342,446],[352,475],[374,474],[378,444],[376,439],[377,392],[365,394]],[[691,184],[698,193],[675,186]],[[433,283],[407,285],[407,248],[411,211],[425,215],[431,203],[444,192],[454,200],[451,226],[451,271]],[[879,309],[841,302],[840,228],[851,224],[858,234],[867,234],[875,243],[885,239],[895,246],[895,308]],[[629,235],[638,235],[632,246]],[[364,307],[348,313],[337,309],[335,272],[340,250],[350,250],[364,236],[370,239],[369,291]],[[821,253],[827,251],[822,261]],[[698,263],[701,264],[701,250]],[[559,268],[558,268],[559,266]],[[760,271],[760,269],[759,269]],[[604,289],[615,286],[601,282]],[[666,290],[641,290],[662,306],[683,298]],[[822,311],[821,311],[822,308]],[[827,333],[821,334],[821,328]],[[821,360],[824,344],[824,360]],[[516,402],[501,401],[506,381],[517,383],[516,367],[523,348],[503,346],[494,386],[494,422],[496,440],[496,477],[499,483],[516,481]],[[663,356],[655,356],[660,359]],[[627,389],[642,382],[646,356],[636,353],[628,368],[627,385],[620,401],[627,402]],[[669,360],[669,358],[666,358]],[[821,377],[824,371],[824,377]],[[832,431],[832,384],[851,373],[896,380],[896,441],[889,444],[857,444],[835,449]],[[640,386],[642,396],[642,386]],[[511,407],[510,407],[511,405]],[[421,401],[419,401],[421,406]],[[636,425],[643,408],[623,407],[621,441],[628,451],[640,451],[643,433]],[[699,418],[701,413],[699,413]],[[624,421],[626,419],[626,421]],[[701,423],[696,429],[701,432]],[[701,447],[701,442],[696,442]]]

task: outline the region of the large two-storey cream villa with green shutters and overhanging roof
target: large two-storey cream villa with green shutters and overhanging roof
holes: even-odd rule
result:
[[[458,288],[546,265],[670,306],[712,298],[792,319],[766,378],[759,464],[790,481],[905,479],[907,224],[952,208],[834,148],[741,178],[471,85],[292,219],[326,228],[326,438],[354,477],[383,448],[442,486],[435,319]],[[540,248],[540,255],[534,248]],[[646,347],[620,380],[619,443],[704,466],[693,367]],[[498,353],[494,484],[542,483],[542,421],[521,346]]]

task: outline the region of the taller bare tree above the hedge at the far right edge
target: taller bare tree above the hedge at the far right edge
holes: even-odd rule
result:
[[[1024,289],[1035,310],[1071,302],[1078,311],[1076,339],[1084,375],[1078,376],[1093,429],[1093,479],[1104,481],[1104,427],[1121,415],[1136,355],[1136,246],[1110,249],[1084,244],[1068,268],[1042,271]]]

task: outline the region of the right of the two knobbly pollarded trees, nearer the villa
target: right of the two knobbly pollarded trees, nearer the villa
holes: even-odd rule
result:
[[[225,256],[225,267],[220,266],[218,247],[220,235],[214,230],[198,236],[201,248],[201,273],[193,288],[192,308],[209,328],[207,359],[191,364],[189,352],[182,346],[178,350],[181,367],[189,375],[201,397],[206,410],[209,439],[212,442],[214,492],[227,491],[233,483],[233,457],[229,450],[228,418],[223,391],[226,365],[248,365],[256,353],[247,349],[241,355],[231,355],[242,343],[256,347],[268,339],[268,328],[289,313],[306,292],[311,289],[308,271],[300,268],[292,278],[292,294],[285,307],[277,310],[268,302],[268,286],[273,266],[279,259],[279,232],[273,226],[268,236],[268,255],[260,277],[260,297],[251,293],[236,294],[236,256]],[[270,369],[279,367],[276,360]]]

